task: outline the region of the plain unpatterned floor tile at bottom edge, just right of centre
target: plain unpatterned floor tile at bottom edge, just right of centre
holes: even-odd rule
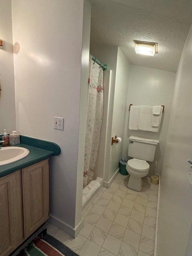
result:
[[[122,241],[120,239],[108,234],[103,244],[103,248],[107,249],[107,251],[110,251],[117,256],[119,253],[121,244],[122,244]]]

